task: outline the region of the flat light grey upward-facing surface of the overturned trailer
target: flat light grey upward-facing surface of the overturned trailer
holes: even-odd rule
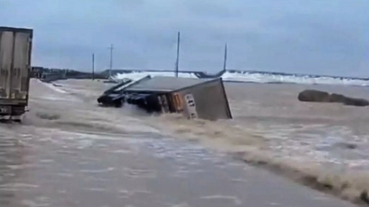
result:
[[[148,80],[132,84],[127,87],[125,91],[155,91],[155,92],[169,92],[176,91],[181,88],[190,87],[199,83],[204,83],[208,80],[197,78],[180,78],[180,77],[152,77]]]

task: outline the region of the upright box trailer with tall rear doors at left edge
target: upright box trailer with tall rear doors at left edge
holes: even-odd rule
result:
[[[0,120],[20,122],[28,106],[32,29],[0,27]]]

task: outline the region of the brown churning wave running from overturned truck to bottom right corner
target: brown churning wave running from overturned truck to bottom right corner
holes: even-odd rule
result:
[[[266,131],[229,120],[189,120],[177,114],[147,117],[146,122],[170,137],[224,152],[237,160],[344,200],[369,204],[369,174],[366,170],[353,169],[341,163],[332,165],[334,160],[315,159],[310,157],[312,154],[299,156],[293,154],[291,148],[287,154],[275,151]]]

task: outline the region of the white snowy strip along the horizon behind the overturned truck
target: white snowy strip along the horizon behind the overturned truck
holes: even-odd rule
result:
[[[118,73],[113,78],[138,80],[147,75],[150,76],[174,76],[173,71],[130,71]],[[288,74],[263,71],[237,71],[227,70],[216,75],[209,75],[199,71],[184,71],[178,73],[179,77],[186,78],[215,78],[221,77],[227,82],[265,83],[265,84],[330,84],[369,86],[369,78],[320,76],[308,74]]]

